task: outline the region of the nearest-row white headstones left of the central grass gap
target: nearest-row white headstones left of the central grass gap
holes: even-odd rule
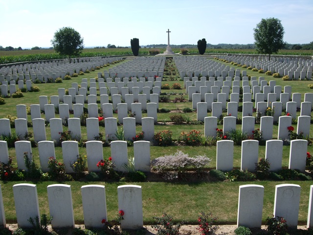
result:
[[[81,187],[85,227],[102,228],[102,221],[108,221],[105,186],[85,185]],[[16,218],[20,228],[31,228],[29,218],[40,218],[37,186],[16,184],[13,186]],[[73,202],[70,185],[47,186],[52,229],[75,228]],[[117,187],[118,209],[123,211],[121,229],[141,229],[143,227],[141,186],[122,185]],[[0,225],[6,227],[0,188]]]

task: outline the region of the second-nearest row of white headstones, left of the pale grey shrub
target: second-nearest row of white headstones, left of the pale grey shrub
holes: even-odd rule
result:
[[[9,159],[8,146],[6,141],[0,141],[0,162],[7,164]],[[102,141],[87,141],[87,166],[89,172],[99,172],[96,164],[103,160]],[[50,157],[56,158],[53,141],[39,141],[38,152],[40,166],[43,172],[48,172],[48,160]],[[30,141],[16,141],[15,153],[18,168],[27,170],[24,163],[24,156],[27,153],[29,160],[32,159],[32,147]],[[72,173],[71,165],[77,161],[79,156],[77,141],[62,142],[63,163],[67,173]],[[128,164],[127,141],[111,141],[111,157],[116,167],[114,170],[125,171],[124,165]],[[136,170],[150,172],[150,141],[134,141],[134,167]]]

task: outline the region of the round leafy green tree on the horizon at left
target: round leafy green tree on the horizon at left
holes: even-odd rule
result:
[[[84,39],[80,33],[71,27],[63,27],[54,33],[51,44],[60,55],[78,56],[84,48]]]

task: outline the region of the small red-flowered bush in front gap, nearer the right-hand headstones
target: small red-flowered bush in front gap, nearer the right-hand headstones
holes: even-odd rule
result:
[[[198,218],[198,228],[197,230],[201,235],[215,235],[215,231],[218,230],[217,225],[213,225],[215,221],[218,220],[218,217],[213,217],[212,213],[204,213],[201,211],[201,215]]]

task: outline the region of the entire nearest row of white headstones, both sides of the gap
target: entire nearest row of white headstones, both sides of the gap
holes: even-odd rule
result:
[[[295,184],[275,186],[273,216],[284,217],[290,228],[298,225],[301,187]],[[85,185],[81,187],[84,225],[87,229],[102,228],[102,221],[108,221],[105,186]],[[37,186],[16,184],[13,186],[15,211],[18,226],[30,228],[29,218],[40,217]],[[74,211],[70,185],[54,184],[47,186],[52,229],[74,228]],[[123,211],[121,229],[141,229],[143,227],[142,189],[137,185],[117,187],[118,210]],[[261,228],[264,201],[264,187],[242,185],[239,187],[237,226]],[[313,185],[310,199],[307,227],[313,224]],[[6,227],[2,192],[0,188],[0,225]]]

